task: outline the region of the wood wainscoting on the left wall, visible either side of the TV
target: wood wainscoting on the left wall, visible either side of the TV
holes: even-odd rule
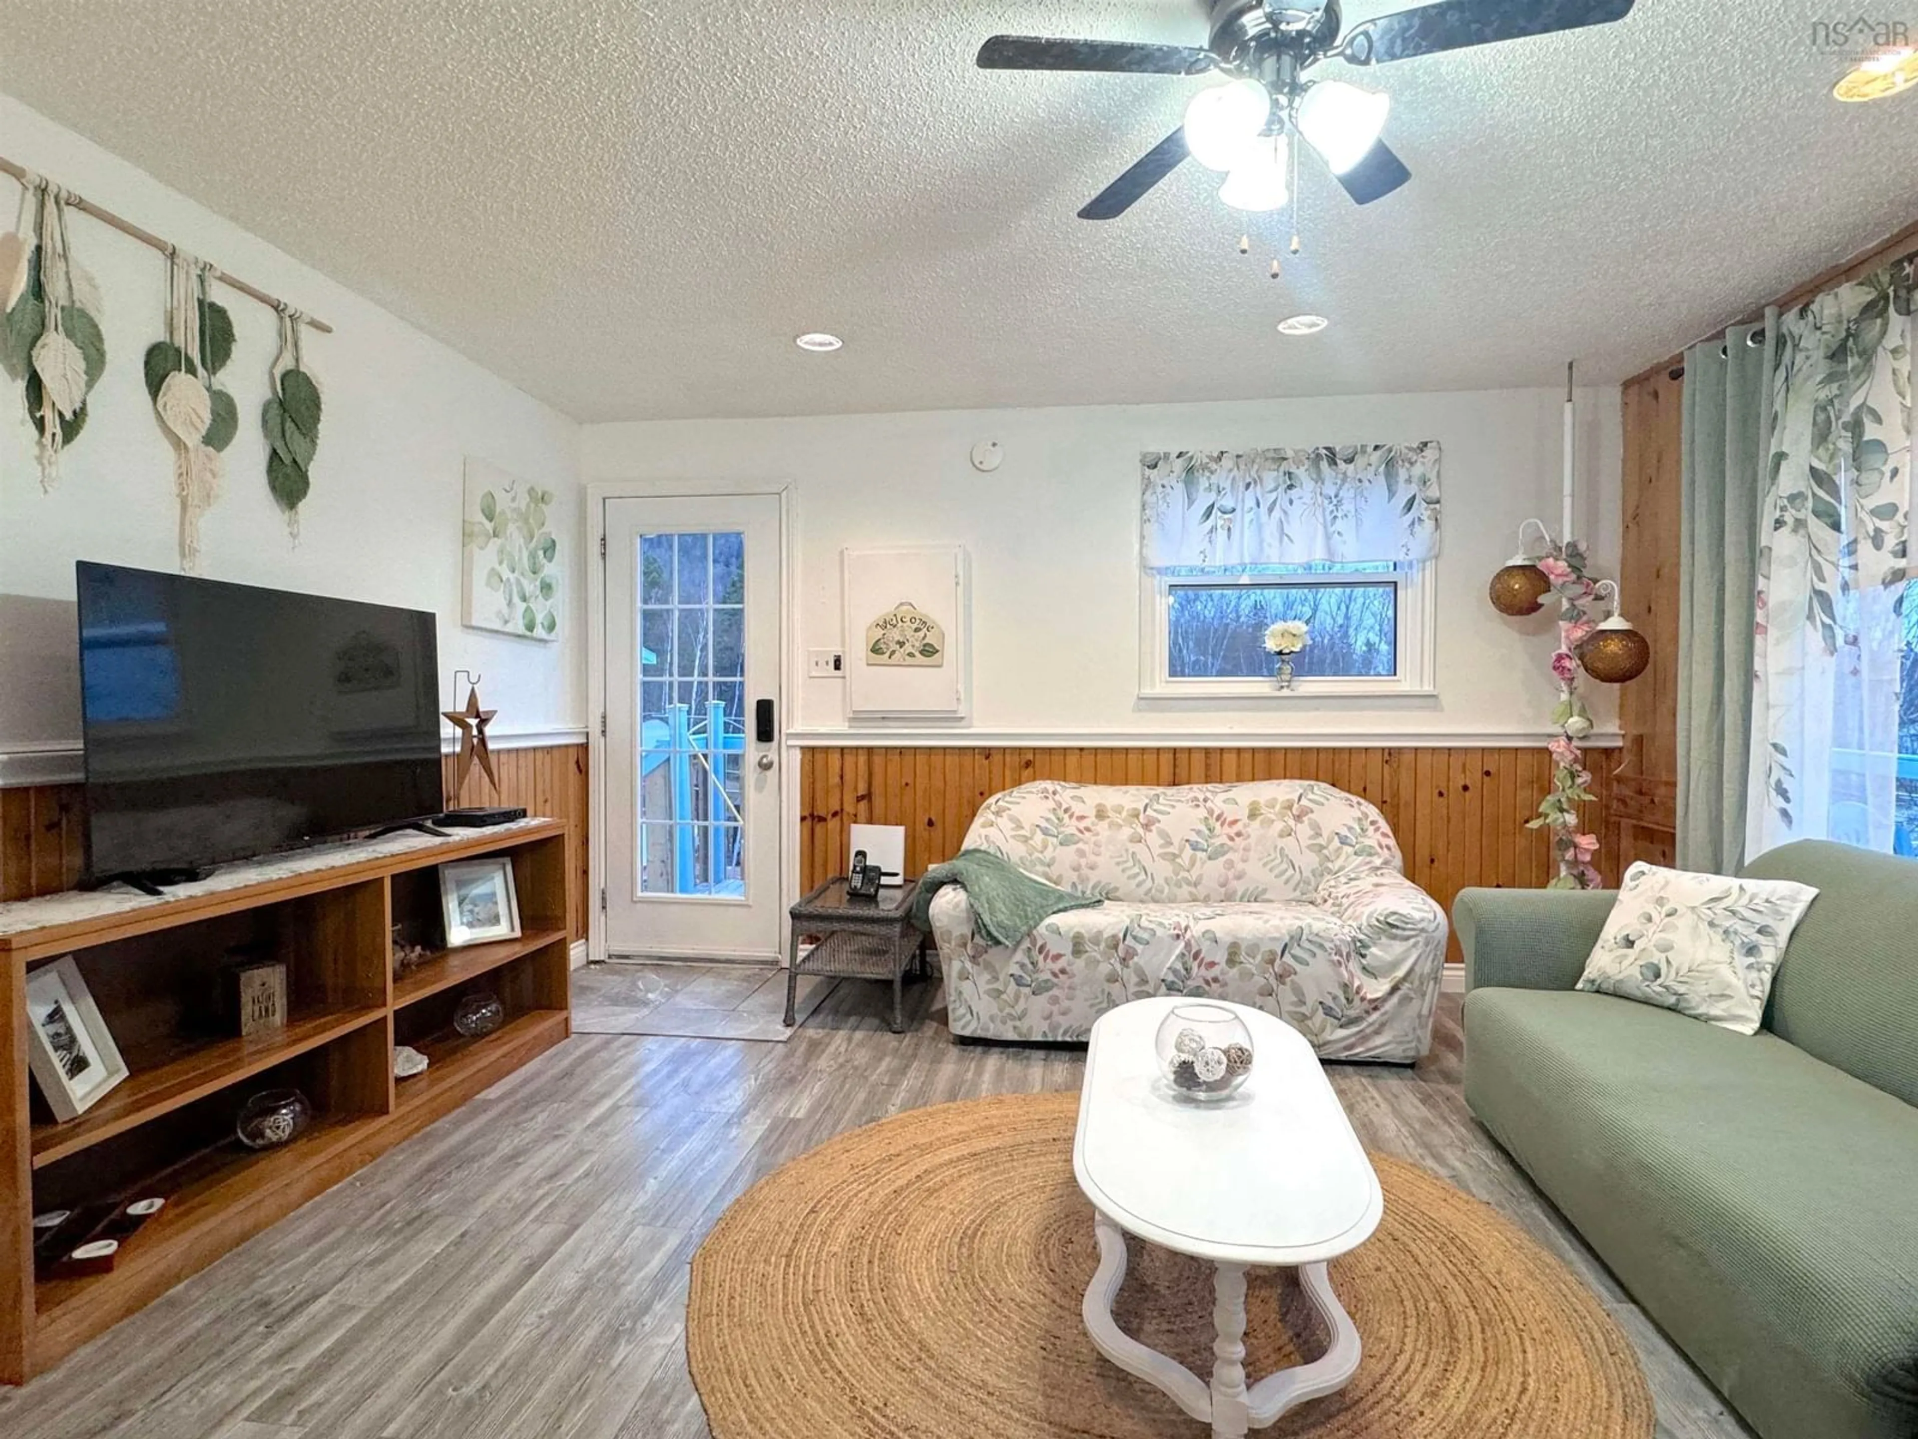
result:
[[[453,790],[453,756],[445,760],[447,804],[524,804],[527,814],[566,821],[572,885],[572,938],[587,936],[587,746],[543,744],[493,750],[499,792],[478,767]],[[0,789],[0,900],[31,900],[73,888],[84,861],[84,815],[79,785]]]

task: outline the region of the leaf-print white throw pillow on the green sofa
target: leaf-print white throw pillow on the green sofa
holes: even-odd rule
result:
[[[1757,1034],[1772,973],[1814,898],[1788,879],[1634,863],[1579,988]]]

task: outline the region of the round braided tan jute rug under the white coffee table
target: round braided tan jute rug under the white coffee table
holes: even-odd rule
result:
[[[1197,1439],[1109,1364],[1072,1180],[1076,1094],[915,1109],[760,1180],[692,1261],[687,1360],[715,1439]],[[1373,1155],[1377,1234],[1331,1264],[1366,1356],[1264,1435],[1649,1439],[1632,1347],[1552,1255],[1425,1170]],[[1251,1195],[1249,1195],[1251,1199]],[[1212,1270],[1130,1241],[1120,1326],[1212,1372]],[[1247,1374],[1316,1358],[1289,1270],[1254,1272]]]

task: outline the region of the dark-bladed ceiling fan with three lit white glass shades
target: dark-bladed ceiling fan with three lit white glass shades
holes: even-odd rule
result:
[[[1226,173],[1220,200],[1237,209],[1277,209],[1291,186],[1287,130],[1310,144],[1360,205],[1389,196],[1412,171],[1381,140],[1391,98],[1345,81],[1314,81],[1322,59],[1385,65],[1527,35],[1577,31],[1625,19],[1634,0],[1438,0],[1381,15],[1341,35],[1339,0],[1298,8],[1274,0],[1216,0],[1205,48],[1126,40],[1053,40],[995,35],[980,46],[980,69],[1109,71],[1122,75],[1206,75],[1216,84],[1193,96],[1185,123],[1080,211],[1084,221],[1124,215],[1187,155]]]

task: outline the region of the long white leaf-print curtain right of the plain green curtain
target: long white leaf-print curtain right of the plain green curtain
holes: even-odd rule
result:
[[[1759,503],[1747,852],[1891,850],[1912,478],[1914,261],[1780,320]]]

